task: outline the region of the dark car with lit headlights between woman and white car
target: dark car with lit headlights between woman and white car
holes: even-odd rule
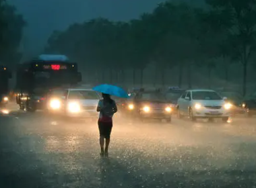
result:
[[[140,91],[133,99],[128,99],[125,105],[134,117],[140,120],[156,119],[171,122],[172,108],[166,102],[166,97],[160,91]]]

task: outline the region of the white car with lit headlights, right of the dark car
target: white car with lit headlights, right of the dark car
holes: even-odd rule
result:
[[[225,102],[216,91],[210,89],[191,89],[185,91],[178,99],[177,113],[179,118],[189,116],[192,121],[197,118],[222,118],[227,122],[232,105]]]

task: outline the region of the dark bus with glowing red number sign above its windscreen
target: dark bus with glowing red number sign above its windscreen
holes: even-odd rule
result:
[[[45,109],[46,96],[59,87],[75,86],[82,81],[77,63],[65,55],[42,54],[19,64],[16,75],[16,102],[20,109],[34,112]]]

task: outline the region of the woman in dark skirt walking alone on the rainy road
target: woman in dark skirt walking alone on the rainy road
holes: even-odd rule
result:
[[[100,131],[100,156],[108,156],[110,134],[113,127],[113,115],[117,112],[117,105],[110,95],[102,93],[103,99],[98,102],[97,111],[100,112],[98,129]],[[104,141],[106,140],[105,148]]]

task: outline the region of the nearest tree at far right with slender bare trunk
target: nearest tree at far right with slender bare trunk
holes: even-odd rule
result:
[[[212,25],[224,30],[232,57],[243,65],[243,95],[247,89],[247,67],[255,50],[256,1],[255,0],[207,0],[212,7],[209,15]]]

